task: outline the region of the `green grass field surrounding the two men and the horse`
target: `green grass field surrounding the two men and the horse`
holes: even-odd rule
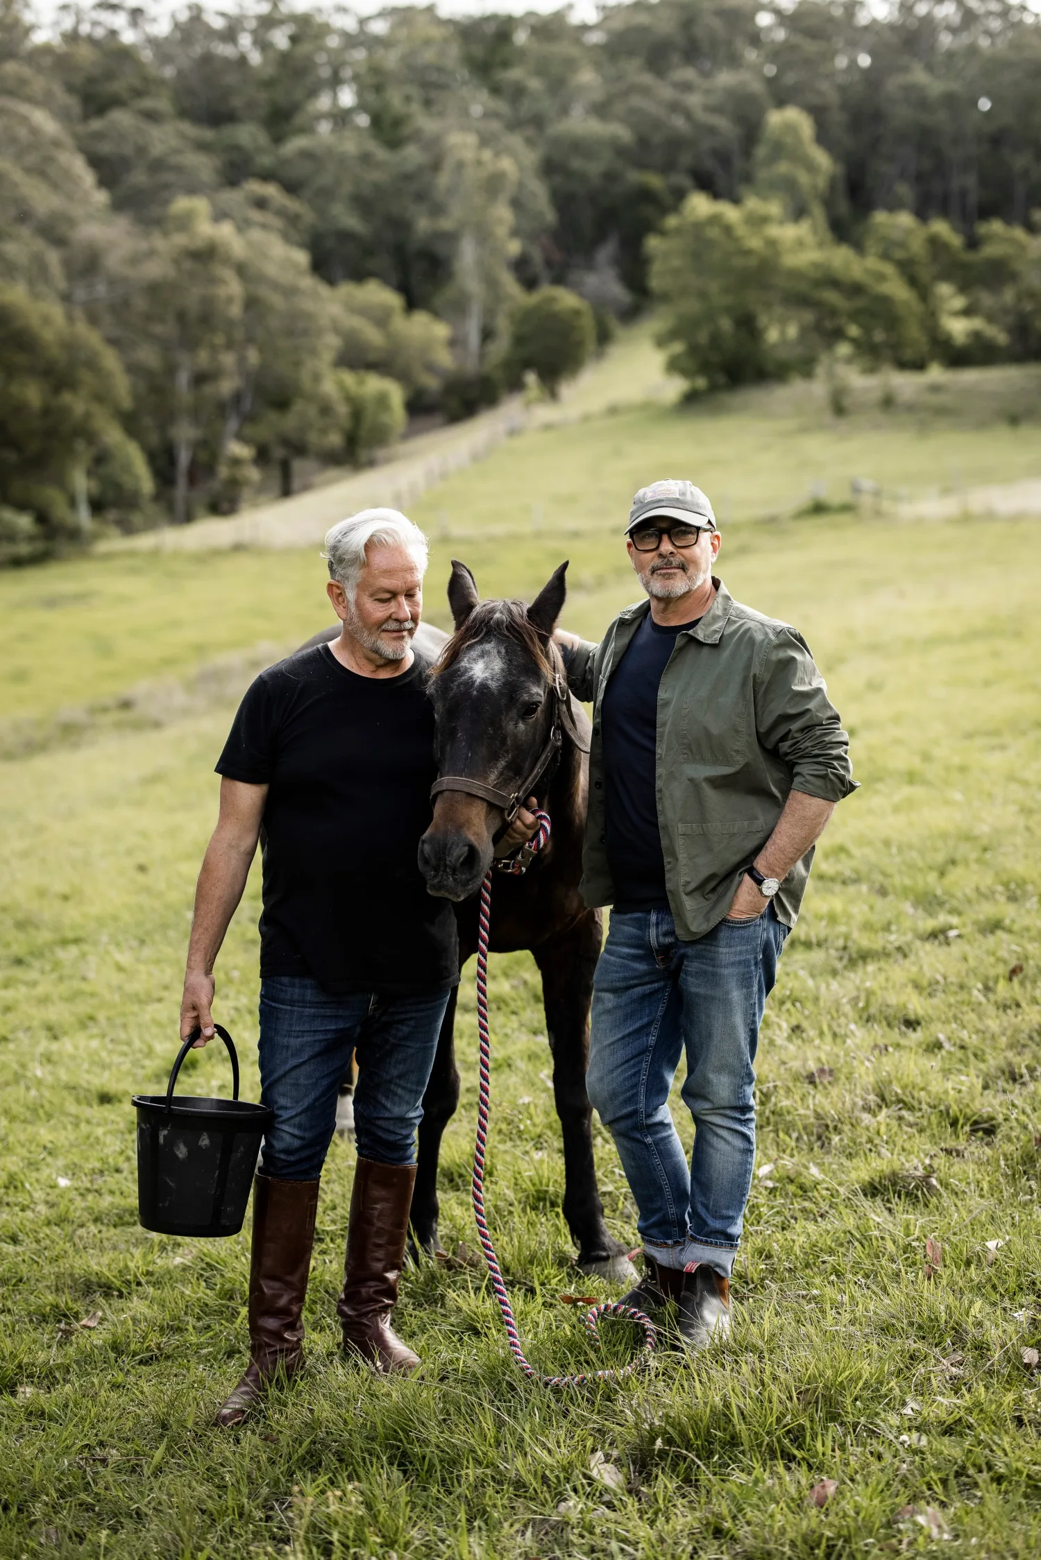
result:
[[[1005,474],[1038,471],[1036,431],[1029,470],[1029,427],[983,399],[971,426],[968,392],[949,418],[936,413],[924,452],[927,432],[886,434],[871,407],[812,434],[810,410],[790,395],[791,438],[799,417],[807,426],[798,449],[787,435],[774,449],[785,496],[799,496],[802,477],[854,474],[854,437],[877,451],[863,474],[886,482],[926,484],[941,445],[961,451],[966,482],[983,480],[988,462],[1008,463],[1018,440],[1022,470]],[[137,729],[100,716],[69,732],[58,724],[47,750],[0,763],[0,1555],[42,1546],[109,1560],[832,1560],[1041,1549],[1041,1371],[1029,1353],[1041,1348],[1038,523],[840,513],[754,524],[769,417],[757,420],[754,398],[741,406],[648,407],[524,435],[417,507],[435,532],[448,512],[471,534],[465,549],[453,535],[435,544],[434,616],[451,552],[489,594],[534,590],[570,552],[567,622],[595,635],[634,597],[615,535],[629,490],[662,465],[698,474],[695,445],[676,434],[699,429],[704,465],[719,474],[705,477],[709,491],[723,477],[734,491],[719,573],[737,596],[802,629],[852,730],[863,789],[826,836],[763,1026],[760,1170],[732,1343],[691,1365],[662,1357],[621,1387],[554,1395],[520,1377],[468,1260],[467,972],[464,1103],[442,1178],[443,1239],[467,1250],[406,1276],[400,1324],[423,1371],[378,1381],[339,1357],[332,1306],[353,1150],[337,1142],[307,1371],[265,1416],[217,1432],[214,1406],[243,1357],[248,1239],[176,1242],[137,1226],[130,1094],[161,1086],[176,1044],[226,690],[151,727],[147,708]],[[915,460],[921,476],[901,477]],[[549,515],[568,493],[574,534],[548,523],[532,534],[531,505]],[[117,707],[140,682],[190,680],[259,641],[292,644],[328,621],[322,593],[311,552],[109,557],[9,574],[0,716]],[[245,1053],[253,1098],[256,913],[251,880],[217,972],[219,1016]],[[590,1349],[559,1295],[590,1281],[570,1268],[528,956],[493,961],[492,1030],[492,1225],[532,1359],[571,1370]],[[215,1050],[192,1062],[192,1086],[226,1089]],[[634,1209],[602,1131],[598,1161],[609,1221],[632,1240]],[[929,1237],[943,1248],[932,1276]],[[95,1326],[80,1326],[95,1314]],[[629,1345],[616,1329],[609,1354]],[[604,1465],[616,1470],[607,1480]],[[808,1491],[821,1479],[835,1493],[816,1509]]]

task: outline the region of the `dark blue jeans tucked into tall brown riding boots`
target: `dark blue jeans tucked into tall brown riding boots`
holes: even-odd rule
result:
[[[275,1112],[264,1175],[315,1181],[336,1131],[340,1081],[357,1053],[354,1134],[364,1159],[415,1164],[415,1129],[448,992],[331,997],[315,980],[261,981],[261,1104]]]

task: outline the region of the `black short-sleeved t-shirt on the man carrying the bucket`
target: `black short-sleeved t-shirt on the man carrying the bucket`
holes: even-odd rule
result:
[[[456,984],[456,916],[417,864],[437,777],[428,672],[417,655],[359,677],[318,644],[247,691],[217,774],[268,786],[261,975],[332,995]]]

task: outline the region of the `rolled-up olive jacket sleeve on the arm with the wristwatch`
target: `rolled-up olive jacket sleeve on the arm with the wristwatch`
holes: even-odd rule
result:
[[[794,629],[782,629],[766,646],[755,677],[755,730],[791,769],[793,791],[841,802],[857,789],[849,736],[810,646]]]

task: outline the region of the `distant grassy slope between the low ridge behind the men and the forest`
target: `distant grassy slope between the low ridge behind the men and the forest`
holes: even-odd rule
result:
[[[656,376],[660,357],[641,329],[574,401],[545,409],[582,421],[513,438],[410,505],[434,538],[428,615],[446,621],[457,552],[489,593],[531,590],[567,555],[573,585],[596,590],[616,566],[632,493],[659,476],[704,485],[721,523],[734,523],[730,557],[749,521],[805,505],[815,484],[838,505],[858,476],[888,495],[1041,476],[1038,368],[897,376],[890,409],[877,381],[858,381],[841,420],[815,384],[693,407],[624,404],[626,384],[648,393]],[[620,410],[604,412],[610,404]],[[300,643],[331,621],[317,552],[108,554],[0,574],[0,750],[6,721]]]

